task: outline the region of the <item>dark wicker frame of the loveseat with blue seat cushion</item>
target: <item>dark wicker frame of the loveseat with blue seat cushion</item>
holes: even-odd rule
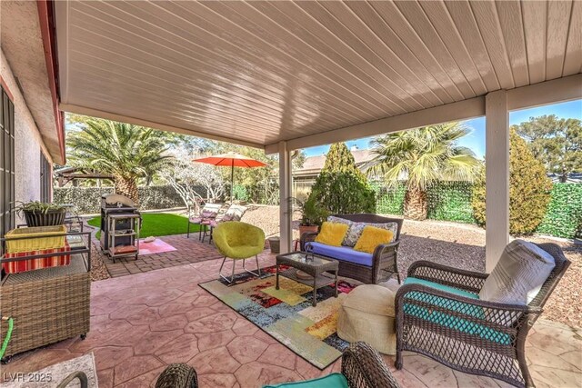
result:
[[[336,214],[336,217],[344,218],[356,223],[386,224],[395,223],[397,225],[396,236],[390,244],[380,244],[376,247],[371,257],[371,265],[351,263],[334,255],[326,255],[339,262],[339,275],[356,279],[365,284],[378,284],[391,278],[394,274],[400,282],[398,274],[397,253],[400,244],[400,231],[403,220],[400,218],[383,217],[377,214]],[[306,250],[306,244],[316,240],[316,233],[305,233],[301,235],[301,250]],[[344,248],[350,249],[350,248]],[[316,252],[317,253],[317,252]],[[320,253],[317,253],[320,254]]]

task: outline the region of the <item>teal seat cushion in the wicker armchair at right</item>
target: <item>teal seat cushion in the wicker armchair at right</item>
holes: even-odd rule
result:
[[[406,278],[404,284],[422,284],[426,285],[427,287],[436,288],[440,291],[445,291],[447,293],[454,293],[456,295],[465,296],[470,299],[479,299],[479,295],[477,295],[477,293],[469,293],[465,290],[461,290],[455,287],[429,282],[423,279],[416,279],[415,277]],[[412,292],[409,293],[409,297],[418,302],[430,303],[457,313],[474,316],[481,320],[486,319],[485,312],[480,306],[452,301],[447,298],[429,295],[427,293]],[[432,323],[437,323],[448,328],[455,329],[459,332],[478,335],[481,338],[493,341],[495,343],[507,345],[511,344],[511,336],[509,334],[498,332],[497,330],[491,329],[490,327],[484,326],[483,324],[468,321],[467,319],[461,318],[457,315],[451,315],[449,313],[433,310],[413,303],[405,303],[404,312],[416,316],[416,318],[420,318]]]

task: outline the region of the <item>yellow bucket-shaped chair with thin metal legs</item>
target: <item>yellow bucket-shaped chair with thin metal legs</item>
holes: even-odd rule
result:
[[[243,269],[255,276],[261,275],[261,268],[258,265],[258,254],[265,249],[265,232],[254,225],[241,223],[239,221],[227,221],[216,225],[214,230],[214,241],[216,249],[225,256],[218,274],[228,283],[232,283],[235,278],[236,260],[243,261]],[[247,270],[245,260],[255,256],[256,272]],[[233,259],[233,271],[228,279],[222,274],[222,268],[226,259]]]

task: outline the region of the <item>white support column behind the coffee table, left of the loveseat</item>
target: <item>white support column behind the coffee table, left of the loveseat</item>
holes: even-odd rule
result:
[[[286,142],[279,142],[279,228],[281,233],[281,253],[291,252],[293,229],[291,228],[292,171],[291,153]]]

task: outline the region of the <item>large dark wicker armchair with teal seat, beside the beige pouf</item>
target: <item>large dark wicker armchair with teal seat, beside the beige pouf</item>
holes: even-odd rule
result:
[[[402,369],[402,352],[411,351],[463,373],[535,386],[527,369],[527,333],[570,264],[557,244],[537,246],[551,254],[555,266],[527,304],[479,300],[489,274],[412,264],[396,293],[396,369]]]

